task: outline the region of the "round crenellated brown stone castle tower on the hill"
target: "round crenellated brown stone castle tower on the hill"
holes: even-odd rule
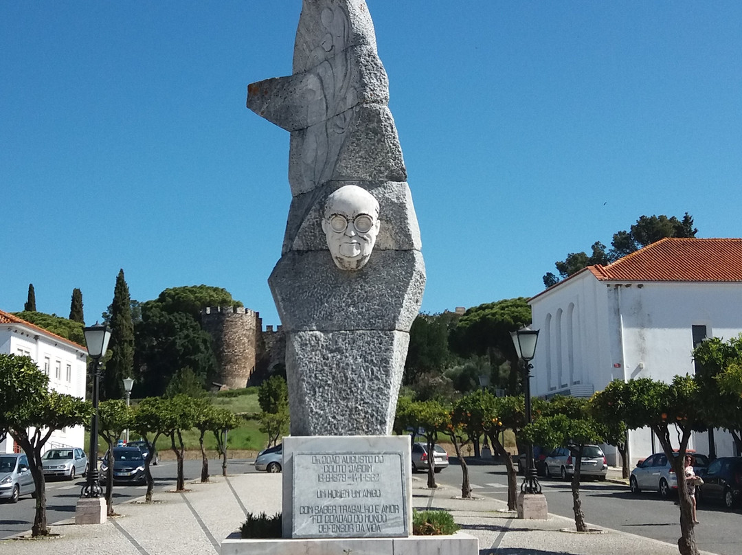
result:
[[[209,306],[201,311],[201,325],[214,341],[219,383],[231,389],[246,387],[259,354],[260,315],[243,306]]]

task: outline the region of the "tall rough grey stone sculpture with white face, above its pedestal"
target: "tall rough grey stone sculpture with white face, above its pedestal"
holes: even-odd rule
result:
[[[291,133],[292,203],[269,285],[292,436],[392,430],[425,272],[388,100],[363,0],[303,0],[293,74],[248,88],[248,108]]]

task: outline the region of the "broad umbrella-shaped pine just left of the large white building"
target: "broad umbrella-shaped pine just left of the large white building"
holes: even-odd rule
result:
[[[531,306],[525,297],[480,304],[468,309],[459,319],[451,330],[450,344],[464,357],[487,355],[493,368],[507,362],[510,372],[505,389],[515,395],[520,391],[522,372],[510,332],[528,324],[531,324]]]

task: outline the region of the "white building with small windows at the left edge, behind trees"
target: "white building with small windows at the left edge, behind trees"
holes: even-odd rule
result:
[[[0,352],[30,356],[49,376],[49,387],[59,393],[85,398],[88,351],[82,345],[61,338],[46,329],[0,310]],[[84,447],[85,428],[56,430],[45,447]],[[19,452],[10,435],[0,443],[0,453]]]

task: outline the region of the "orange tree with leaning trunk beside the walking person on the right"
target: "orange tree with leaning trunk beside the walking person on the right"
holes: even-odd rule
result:
[[[605,390],[596,393],[592,402],[600,410],[613,411],[630,430],[649,427],[660,441],[675,476],[683,476],[683,460],[691,433],[708,428],[704,421],[706,407],[703,407],[703,401],[703,388],[695,378],[676,375],[671,384],[650,378],[626,382],[614,380]],[[672,447],[673,436],[679,442],[677,456]],[[638,490],[635,483],[632,489]],[[677,480],[677,491],[681,533],[677,546],[681,555],[698,555],[690,488],[685,480]]]

